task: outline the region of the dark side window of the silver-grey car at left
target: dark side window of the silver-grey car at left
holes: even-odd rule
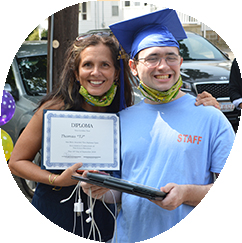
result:
[[[17,59],[17,62],[27,94],[45,94],[47,56],[24,57]]]

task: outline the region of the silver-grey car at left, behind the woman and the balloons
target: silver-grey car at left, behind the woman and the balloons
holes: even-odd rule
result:
[[[24,42],[17,52],[4,89],[14,97],[16,109],[13,118],[1,126],[15,144],[18,137],[30,121],[38,101],[46,94],[47,41]],[[38,153],[33,161],[40,165]],[[31,198],[36,183],[15,177],[23,193]]]

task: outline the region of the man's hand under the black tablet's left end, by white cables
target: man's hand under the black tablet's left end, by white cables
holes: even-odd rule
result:
[[[88,171],[84,171],[82,176],[84,178],[87,177],[87,173]],[[92,185],[92,184],[89,184],[89,183],[86,183],[86,182],[81,182],[81,187],[82,187],[82,190],[88,195],[90,196],[90,189],[92,191],[92,197],[93,198],[96,198],[96,199],[101,199],[102,196],[108,192],[110,189],[107,189],[107,188],[104,188],[104,187],[100,187],[100,186],[95,186],[95,185]]]

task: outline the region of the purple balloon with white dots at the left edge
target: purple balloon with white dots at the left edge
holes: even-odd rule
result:
[[[0,126],[9,122],[12,119],[14,112],[15,112],[14,98],[9,92],[3,90]]]

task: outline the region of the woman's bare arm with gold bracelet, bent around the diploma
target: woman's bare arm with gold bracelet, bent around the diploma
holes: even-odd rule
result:
[[[57,109],[59,107],[53,106],[50,108]],[[13,174],[19,177],[50,185],[56,175],[51,175],[50,172],[42,170],[38,165],[32,163],[35,155],[41,149],[43,109],[42,106],[36,111],[20,135],[11,154],[9,168]],[[51,185],[70,186],[77,184],[77,181],[71,179],[71,175],[81,166],[82,164],[78,163],[68,168],[56,177]]]

